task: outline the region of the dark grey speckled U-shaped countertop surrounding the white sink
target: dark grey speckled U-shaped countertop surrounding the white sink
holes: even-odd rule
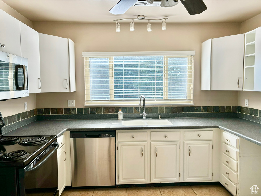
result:
[[[85,120],[37,120],[10,131],[5,136],[57,135],[65,131],[131,130],[131,129],[199,129],[220,128],[261,146],[261,123],[238,117],[226,118],[165,118],[173,125],[123,126],[123,120],[133,119],[85,119]]]

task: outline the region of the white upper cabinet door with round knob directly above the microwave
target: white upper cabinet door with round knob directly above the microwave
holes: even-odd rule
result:
[[[20,21],[0,9],[0,51],[21,56]]]

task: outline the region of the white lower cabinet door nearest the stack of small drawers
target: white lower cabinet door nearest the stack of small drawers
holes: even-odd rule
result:
[[[184,181],[212,180],[212,141],[184,142]]]

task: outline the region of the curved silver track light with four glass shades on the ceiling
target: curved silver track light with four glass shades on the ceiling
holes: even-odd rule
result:
[[[116,21],[116,32],[121,32],[121,25],[120,23],[118,23],[117,21],[118,20],[132,20],[131,23],[130,23],[130,30],[131,31],[134,31],[134,20],[147,20],[148,21],[148,24],[147,24],[147,31],[148,32],[151,32],[151,24],[150,24],[150,21],[151,20],[163,20],[162,21],[162,30],[166,30],[167,29],[167,26],[166,26],[166,19],[169,19],[169,18],[160,18],[160,19],[145,19],[145,16],[144,15],[138,15],[137,18],[122,18],[122,19],[117,19],[117,20],[114,20]]]

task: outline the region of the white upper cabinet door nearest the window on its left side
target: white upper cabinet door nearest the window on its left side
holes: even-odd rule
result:
[[[39,33],[41,92],[69,92],[68,39]]]

